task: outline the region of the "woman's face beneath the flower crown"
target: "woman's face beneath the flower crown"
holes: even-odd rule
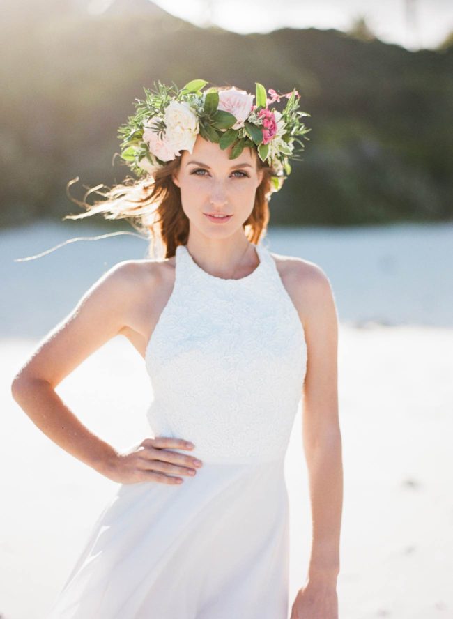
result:
[[[254,206],[256,188],[263,171],[256,171],[255,151],[244,148],[236,159],[229,159],[231,146],[222,151],[215,142],[197,135],[192,153],[183,151],[181,166],[173,182],[181,189],[183,211],[190,226],[206,236],[230,236],[242,230]],[[224,220],[209,213],[229,215]]]

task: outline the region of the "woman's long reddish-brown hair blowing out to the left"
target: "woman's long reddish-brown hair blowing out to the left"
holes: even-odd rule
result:
[[[254,150],[251,148],[251,150]],[[263,180],[256,188],[254,207],[247,220],[243,223],[245,235],[251,243],[258,243],[261,236],[266,234],[269,221],[269,206],[271,181],[275,170],[262,162],[256,155],[257,170],[263,170]],[[189,220],[181,206],[181,190],[174,184],[171,174],[181,165],[179,155],[167,165],[156,170],[153,174],[146,174],[138,180],[130,176],[122,183],[108,188],[98,185],[85,194],[84,200],[70,199],[86,208],[86,213],[66,215],[63,219],[83,219],[97,213],[102,213],[108,220],[126,219],[132,227],[150,238],[148,257],[164,259],[174,256],[178,245],[185,245],[189,235]],[[77,181],[69,181],[67,187]],[[100,188],[107,191],[99,191]],[[95,192],[102,196],[102,200],[88,204],[86,197]]]

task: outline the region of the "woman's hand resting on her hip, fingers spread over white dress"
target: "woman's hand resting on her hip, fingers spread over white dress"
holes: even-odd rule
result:
[[[192,444],[182,438],[157,436],[145,438],[137,447],[125,453],[118,453],[110,461],[106,477],[121,484],[159,482],[160,484],[181,484],[183,479],[174,475],[193,477],[202,462],[197,458],[169,449],[192,449]],[[199,463],[199,464],[197,464]]]

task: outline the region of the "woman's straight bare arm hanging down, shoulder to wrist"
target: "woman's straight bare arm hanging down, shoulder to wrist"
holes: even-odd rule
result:
[[[312,551],[307,580],[335,588],[343,502],[338,417],[338,321],[330,282],[312,265],[305,291],[308,360],[302,394],[302,442],[312,505]]]

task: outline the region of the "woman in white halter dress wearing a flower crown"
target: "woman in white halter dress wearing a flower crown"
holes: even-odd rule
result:
[[[48,619],[286,619],[284,457],[300,397],[314,526],[291,619],[338,617],[337,312],[319,266],[260,243],[307,114],[296,91],[267,98],[257,84],[253,105],[206,83],[146,91],[121,128],[123,158],[144,178],[84,213],[136,217],[164,259],[111,268],[13,382],[49,438],[120,484]],[[120,333],[153,386],[153,437],[128,452],[54,391]]]

